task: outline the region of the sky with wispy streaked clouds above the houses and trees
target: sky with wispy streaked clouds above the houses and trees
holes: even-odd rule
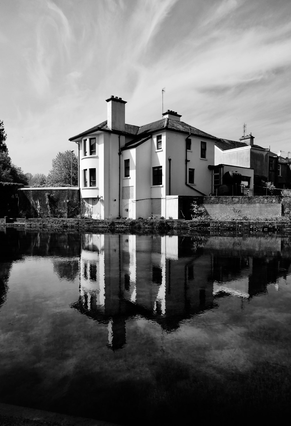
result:
[[[290,0],[0,0],[0,119],[12,162],[48,173],[68,138],[173,109],[238,140],[291,151]],[[285,154],[283,154],[285,156]]]

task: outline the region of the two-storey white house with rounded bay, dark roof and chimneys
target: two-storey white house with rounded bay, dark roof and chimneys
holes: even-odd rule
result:
[[[79,147],[80,196],[93,217],[178,219],[179,197],[214,194],[220,139],[170,110],[153,123],[126,124],[126,101],[106,102],[107,120],[69,139]]]

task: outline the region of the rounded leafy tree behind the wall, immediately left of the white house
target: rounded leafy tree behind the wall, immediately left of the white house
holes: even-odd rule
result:
[[[47,186],[71,186],[71,161],[72,161],[72,186],[78,184],[78,159],[70,150],[58,153],[52,160],[52,168],[48,172]]]

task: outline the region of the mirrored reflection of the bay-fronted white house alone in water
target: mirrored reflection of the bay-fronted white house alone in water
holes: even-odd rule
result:
[[[209,254],[191,237],[83,234],[80,297],[71,307],[108,325],[113,350],[126,343],[128,318],[170,332],[213,300]]]

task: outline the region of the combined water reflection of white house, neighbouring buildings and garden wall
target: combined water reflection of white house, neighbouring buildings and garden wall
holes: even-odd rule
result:
[[[71,307],[107,325],[116,350],[126,344],[127,319],[174,331],[222,296],[265,293],[289,259],[280,238],[83,234],[80,297]]]

